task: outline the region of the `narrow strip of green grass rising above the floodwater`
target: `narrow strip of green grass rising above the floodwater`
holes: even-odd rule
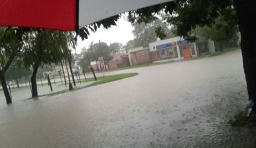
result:
[[[97,81],[95,81],[94,83],[91,83],[88,86],[84,86],[84,87],[74,87],[73,91],[76,91],[78,89],[87,88],[87,87],[96,86],[96,85],[99,85],[99,84],[109,83],[109,82],[112,82],[112,81],[121,80],[123,78],[136,76],[138,74],[139,73],[122,73],[122,74],[119,74],[119,75],[97,77]],[[90,81],[94,81],[94,78],[88,78],[87,79],[87,82],[90,82]],[[54,93],[50,93],[50,94],[44,94],[44,95],[39,96],[39,97],[55,96],[55,95],[66,93],[66,92],[69,92],[69,90],[65,89],[63,91],[58,91],[58,92],[54,92]],[[31,98],[29,98],[29,99],[31,99]]]

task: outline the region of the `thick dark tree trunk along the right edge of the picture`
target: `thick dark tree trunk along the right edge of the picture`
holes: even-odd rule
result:
[[[243,66],[249,99],[253,100],[253,111],[256,112],[256,1],[234,0],[237,10]]]

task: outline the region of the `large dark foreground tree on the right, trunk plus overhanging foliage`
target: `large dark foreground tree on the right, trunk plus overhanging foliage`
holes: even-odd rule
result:
[[[158,4],[129,12],[129,20],[133,23],[152,22],[155,15],[165,12],[162,17],[167,23],[176,27],[175,33],[187,40],[196,40],[191,30],[197,26],[211,26],[220,16],[229,20],[234,26],[238,24],[241,34],[241,50],[245,80],[249,99],[253,100],[253,112],[256,112],[256,59],[254,55],[254,29],[256,1],[254,0],[181,0]]]

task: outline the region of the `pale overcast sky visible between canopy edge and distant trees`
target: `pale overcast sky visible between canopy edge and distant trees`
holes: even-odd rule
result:
[[[79,39],[78,45],[76,46],[76,53],[80,53],[81,48],[84,46],[88,48],[91,41],[98,43],[100,40],[107,44],[119,42],[122,45],[125,45],[127,41],[134,39],[134,35],[131,33],[133,30],[131,23],[124,18],[120,18],[116,24],[117,26],[112,26],[110,29],[100,28],[95,33],[90,32],[90,35],[86,40],[82,41]]]

